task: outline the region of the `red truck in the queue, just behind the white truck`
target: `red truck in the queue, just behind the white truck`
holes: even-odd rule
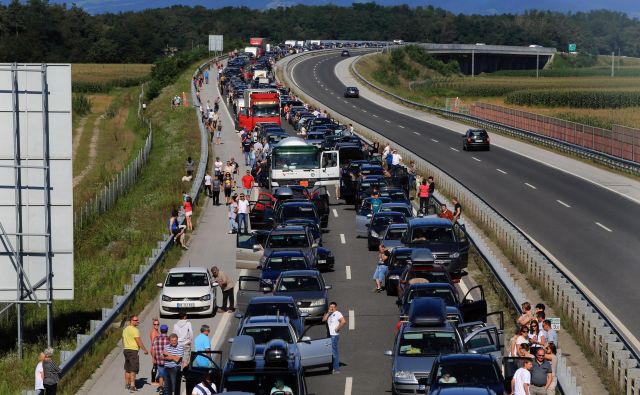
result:
[[[238,109],[238,127],[252,130],[259,123],[280,125],[280,92],[277,89],[247,89],[245,107]]]

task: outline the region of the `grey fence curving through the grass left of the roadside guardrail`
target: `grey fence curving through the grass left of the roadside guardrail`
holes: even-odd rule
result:
[[[109,210],[116,203],[118,197],[125,193],[126,190],[138,180],[142,166],[147,162],[153,140],[151,122],[141,114],[143,95],[144,84],[140,86],[140,96],[138,97],[138,119],[147,126],[147,130],[149,131],[144,146],[140,149],[135,159],[133,159],[127,167],[122,169],[108,185],[105,185],[100,192],[96,193],[95,197],[82,204],[80,209],[73,213],[74,228],[82,229],[97,216]]]

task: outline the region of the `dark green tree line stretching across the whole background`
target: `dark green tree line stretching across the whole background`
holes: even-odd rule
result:
[[[566,51],[569,43],[592,54],[640,56],[640,21],[615,11],[527,11],[464,15],[441,8],[354,3],[253,10],[247,7],[173,6],[90,15],[75,5],[12,0],[0,5],[3,62],[150,63],[167,47],[207,45],[223,34],[225,48],[249,37],[393,40],[497,45],[537,44]]]

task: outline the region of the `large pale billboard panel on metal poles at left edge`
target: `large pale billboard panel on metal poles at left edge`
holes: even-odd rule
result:
[[[73,298],[71,102],[71,65],[0,64],[0,301],[19,271],[23,299],[47,299],[49,265],[53,299]]]

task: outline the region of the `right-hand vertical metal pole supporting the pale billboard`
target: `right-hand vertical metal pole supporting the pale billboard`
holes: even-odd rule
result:
[[[53,344],[53,262],[51,257],[51,188],[49,174],[49,84],[42,65],[42,165],[44,166],[44,233],[47,265],[47,346]]]

